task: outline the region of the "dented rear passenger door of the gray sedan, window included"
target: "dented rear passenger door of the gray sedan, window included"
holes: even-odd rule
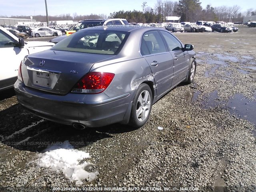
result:
[[[158,96],[170,89],[173,77],[173,58],[157,30],[142,36],[140,53],[148,62],[155,79]]]

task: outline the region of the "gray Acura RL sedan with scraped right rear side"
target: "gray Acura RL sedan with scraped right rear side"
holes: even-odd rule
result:
[[[78,129],[116,122],[138,128],[154,102],[193,81],[193,48],[161,28],[86,28],[26,56],[14,89],[18,102],[44,119]]]

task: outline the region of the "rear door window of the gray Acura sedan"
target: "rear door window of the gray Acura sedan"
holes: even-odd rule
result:
[[[146,32],[142,36],[140,53],[142,55],[167,52],[164,41],[157,31]]]

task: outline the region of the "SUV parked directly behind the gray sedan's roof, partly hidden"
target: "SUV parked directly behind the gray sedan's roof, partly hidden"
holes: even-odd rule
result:
[[[95,26],[113,26],[113,25],[129,25],[126,19],[89,19],[78,22],[70,30],[66,32],[66,35],[69,36],[81,29]]]

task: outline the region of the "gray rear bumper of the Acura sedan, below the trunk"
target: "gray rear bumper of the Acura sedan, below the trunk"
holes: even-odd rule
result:
[[[18,102],[30,113],[41,118],[72,125],[100,127],[116,122],[128,122],[136,91],[119,96],[106,94],[56,95],[26,87],[19,80],[14,84]]]

